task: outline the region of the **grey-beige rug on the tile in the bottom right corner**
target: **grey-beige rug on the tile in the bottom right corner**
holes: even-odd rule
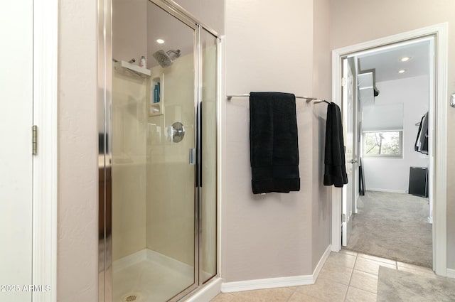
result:
[[[380,266],[377,302],[455,301],[455,279],[412,274]]]

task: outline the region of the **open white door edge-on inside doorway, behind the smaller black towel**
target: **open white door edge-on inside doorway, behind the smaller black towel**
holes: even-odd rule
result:
[[[354,200],[354,76],[353,63],[349,59],[343,60],[343,131],[344,144],[346,146],[346,173],[348,184],[343,186],[343,214],[341,217],[341,244],[348,245],[350,231],[352,230],[353,200]]]

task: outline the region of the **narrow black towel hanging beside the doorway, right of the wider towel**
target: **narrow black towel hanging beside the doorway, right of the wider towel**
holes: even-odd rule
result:
[[[333,103],[328,104],[327,107],[326,156],[324,164],[324,185],[335,185],[337,188],[342,188],[343,184],[348,183],[341,111],[340,107]]]

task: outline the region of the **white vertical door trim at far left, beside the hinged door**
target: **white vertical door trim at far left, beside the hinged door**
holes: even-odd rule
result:
[[[33,301],[57,301],[58,0],[33,1]],[[48,287],[50,286],[50,290]]]

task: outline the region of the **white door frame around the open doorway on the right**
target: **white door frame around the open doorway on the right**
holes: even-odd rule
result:
[[[446,205],[447,205],[447,23],[419,28],[385,38],[379,38],[365,43],[350,45],[332,51],[332,101],[341,106],[341,64],[342,58],[350,53],[358,53],[362,50],[378,48],[409,41],[425,36],[434,36],[435,48],[435,91],[434,102],[434,138],[431,148],[434,150],[433,161],[433,270],[440,276],[447,275],[447,230],[446,230]],[[332,189],[332,242],[331,249],[338,252],[341,249],[341,202],[340,188]]]

